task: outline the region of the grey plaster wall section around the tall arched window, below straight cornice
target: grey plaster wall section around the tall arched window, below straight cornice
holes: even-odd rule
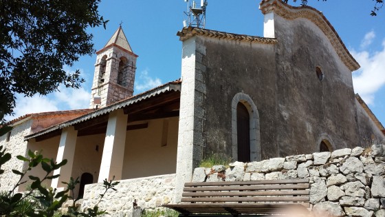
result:
[[[200,100],[206,109],[203,125],[203,157],[232,154],[232,99],[248,94],[259,112],[262,155],[276,156],[276,74],[274,45],[198,37],[206,54],[201,80],[206,94]]]

